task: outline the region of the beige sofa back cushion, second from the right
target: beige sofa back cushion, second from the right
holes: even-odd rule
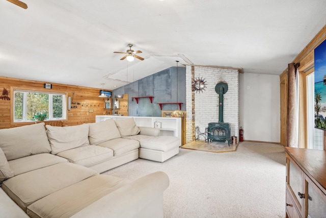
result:
[[[120,132],[113,119],[106,119],[100,123],[89,124],[88,139],[91,144],[99,144],[115,138],[120,138]]]

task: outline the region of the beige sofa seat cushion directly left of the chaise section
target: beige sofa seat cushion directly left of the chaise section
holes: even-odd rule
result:
[[[126,138],[116,138],[99,143],[98,146],[112,149],[114,151],[114,156],[119,156],[138,149],[139,141]]]

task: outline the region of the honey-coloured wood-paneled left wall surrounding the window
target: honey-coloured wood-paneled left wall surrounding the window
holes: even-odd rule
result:
[[[30,81],[30,80],[21,80],[15,78],[0,77],[0,90],[1,93],[5,89],[8,90],[9,96],[11,92],[11,87],[24,87],[31,89],[40,89],[42,91],[52,90],[58,92],[67,92],[68,96],[71,97],[72,103],[80,104],[71,104],[72,108],[70,111],[67,111],[67,119],[63,120],[63,124],[66,126],[74,126],[83,123],[94,123],[96,115],[103,114],[112,114],[112,109],[104,109],[104,100],[105,98],[99,98],[100,88],[89,88],[82,86],[73,86],[73,85],[64,85],[64,84],[52,84],[52,89],[43,88],[44,83],[50,82],[41,82],[41,81]],[[110,90],[108,90],[110,91]],[[67,105],[68,105],[68,96],[67,96]],[[26,123],[15,123],[11,122],[11,101],[13,99],[3,100],[0,99],[0,129],[6,129],[16,126],[30,125],[35,122],[26,122]],[[92,109],[92,110],[90,110]],[[51,123],[50,121],[42,121]]]

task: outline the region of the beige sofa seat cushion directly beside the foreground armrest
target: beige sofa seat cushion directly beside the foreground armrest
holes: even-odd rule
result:
[[[128,183],[128,180],[118,177],[97,175],[35,202],[28,207],[27,214],[31,217],[70,217]],[[110,207],[110,204],[103,207]]]

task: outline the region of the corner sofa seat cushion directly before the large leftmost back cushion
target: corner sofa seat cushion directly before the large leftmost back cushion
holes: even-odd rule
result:
[[[13,169],[14,175],[17,176],[19,174],[34,171],[34,169],[64,162],[68,162],[68,160],[49,153],[43,153],[10,160],[9,165]]]

